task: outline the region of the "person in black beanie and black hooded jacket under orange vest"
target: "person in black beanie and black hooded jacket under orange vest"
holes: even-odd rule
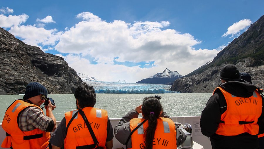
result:
[[[213,149],[257,149],[263,132],[263,97],[257,87],[240,79],[236,66],[219,73],[221,85],[208,100],[200,119],[201,132],[210,137]]]

